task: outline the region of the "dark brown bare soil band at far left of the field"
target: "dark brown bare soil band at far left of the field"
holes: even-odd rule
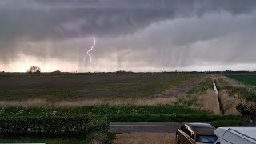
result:
[[[80,88],[92,84],[106,84],[112,82],[124,82],[135,79],[128,76],[58,76],[58,77],[12,77],[1,78],[0,87],[2,89],[65,89]]]

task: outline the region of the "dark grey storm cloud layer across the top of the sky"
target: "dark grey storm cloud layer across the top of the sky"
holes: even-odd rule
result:
[[[0,2],[0,7],[1,39],[40,40],[91,34],[101,37],[132,34],[154,22],[190,18],[222,10],[231,14],[250,13],[256,8],[256,1],[6,0]]]

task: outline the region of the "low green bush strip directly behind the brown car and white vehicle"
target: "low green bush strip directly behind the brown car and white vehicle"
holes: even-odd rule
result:
[[[217,120],[210,122],[214,127],[242,126],[242,120]]]

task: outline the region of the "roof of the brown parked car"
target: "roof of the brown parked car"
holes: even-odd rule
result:
[[[199,135],[215,135],[215,127],[208,123],[186,123],[187,126],[194,131],[195,134]]]

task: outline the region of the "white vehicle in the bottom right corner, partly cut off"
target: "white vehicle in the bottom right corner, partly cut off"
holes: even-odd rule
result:
[[[256,127],[219,127],[214,144],[256,144]]]

